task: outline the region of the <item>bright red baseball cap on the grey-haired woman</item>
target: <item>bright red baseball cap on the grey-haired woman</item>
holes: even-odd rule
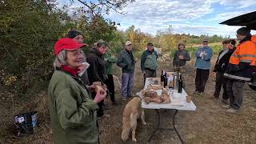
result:
[[[79,44],[71,38],[61,38],[59,39],[54,46],[54,54],[58,55],[62,50],[77,50],[86,44]]]

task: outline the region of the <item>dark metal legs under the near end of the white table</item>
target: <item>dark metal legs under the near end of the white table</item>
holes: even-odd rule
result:
[[[182,140],[182,137],[178,134],[178,130],[176,129],[175,127],[175,117],[176,115],[178,114],[178,110],[175,110],[174,114],[173,114],[173,129],[172,128],[161,128],[160,127],[160,122],[161,122],[161,116],[159,114],[159,111],[158,109],[155,109],[157,114],[158,114],[158,126],[155,128],[155,130],[153,131],[153,133],[150,135],[150,138],[147,142],[150,142],[151,141],[151,138],[153,138],[154,134],[158,131],[158,130],[174,130],[175,133],[178,135],[178,138],[181,140],[182,144],[184,143],[183,140]]]

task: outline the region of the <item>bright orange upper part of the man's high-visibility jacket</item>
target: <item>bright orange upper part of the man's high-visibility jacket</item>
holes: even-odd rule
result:
[[[239,62],[248,62],[256,66],[256,44],[251,41],[242,42],[230,57],[230,63],[238,65]]]

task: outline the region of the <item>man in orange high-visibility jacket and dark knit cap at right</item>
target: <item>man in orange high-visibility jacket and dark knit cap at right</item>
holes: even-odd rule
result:
[[[230,57],[224,76],[228,78],[226,89],[230,97],[229,113],[236,113],[242,106],[242,90],[245,82],[250,82],[256,66],[256,44],[251,42],[250,29],[241,27],[237,30],[239,44]]]

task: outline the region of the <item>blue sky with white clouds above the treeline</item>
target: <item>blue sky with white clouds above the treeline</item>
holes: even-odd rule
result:
[[[57,2],[61,5],[66,1]],[[70,10],[81,6],[76,0],[74,2]],[[174,34],[218,34],[234,38],[238,26],[218,23],[255,10],[256,1],[253,0],[137,0],[122,10],[126,14],[110,11],[104,17],[120,23],[118,30],[134,25],[142,32],[156,34],[171,25]],[[256,34],[255,30],[252,33]]]

